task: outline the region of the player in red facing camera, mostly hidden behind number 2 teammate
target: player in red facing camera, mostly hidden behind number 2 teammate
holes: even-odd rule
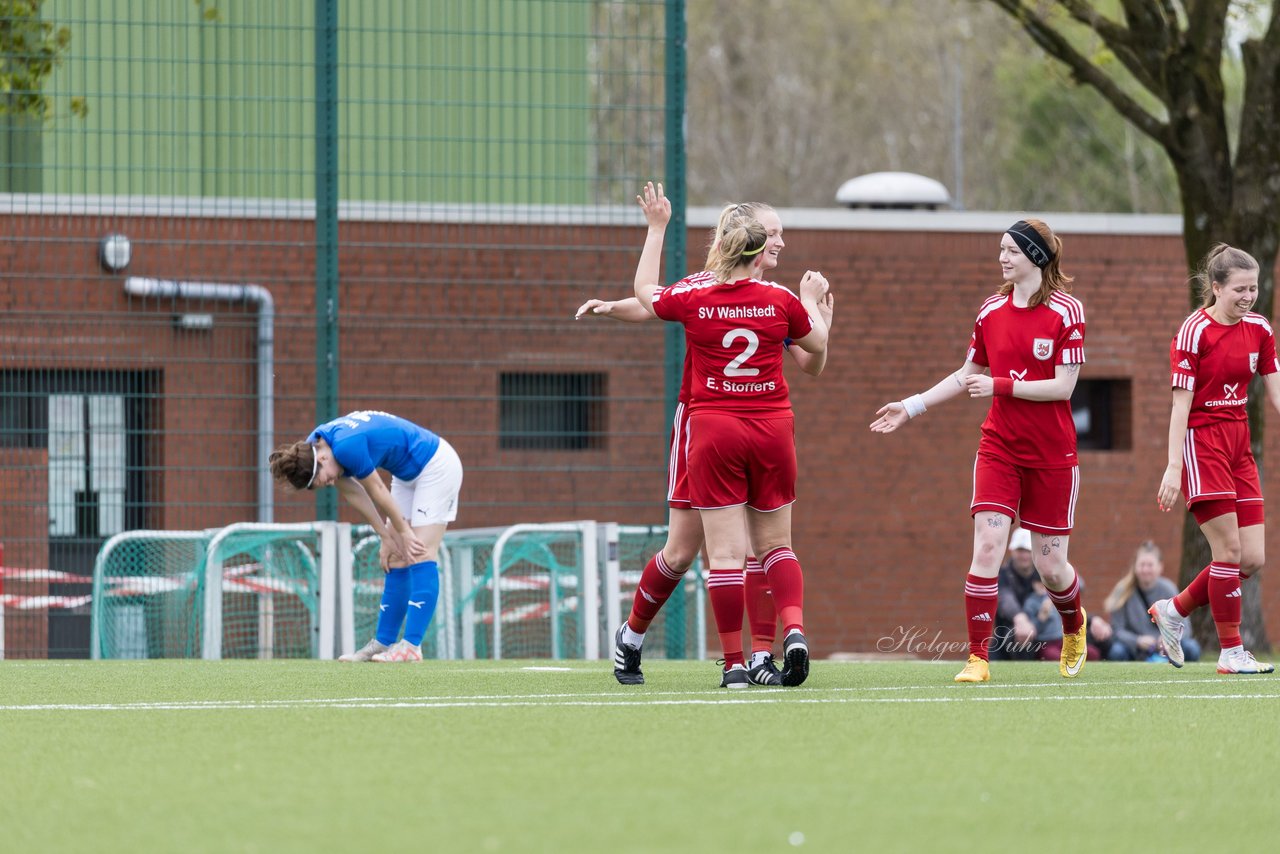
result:
[[[671,206],[666,201],[662,184],[654,186],[653,182],[649,182],[644,188],[644,195],[637,196],[636,200],[645,211],[650,225],[664,233],[671,216]],[[744,219],[758,219],[764,225],[769,241],[762,254],[762,266],[764,270],[772,270],[777,266],[778,254],[786,246],[782,239],[782,220],[771,206],[759,202],[746,202],[727,205],[721,211],[712,230],[707,268],[714,266],[719,257],[721,237]],[[654,280],[658,278],[660,254],[662,241],[646,242],[645,252],[641,255],[636,271],[636,275],[641,280]],[[700,275],[712,277],[709,273]],[[694,278],[690,277],[690,280]],[[832,294],[828,293],[819,301],[818,310],[823,323],[829,329],[835,311]],[[654,315],[646,311],[635,297],[614,301],[588,300],[579,307],[575,318],[596,315],[627,323],[654,319]],[[788,344],[786,350],[795,359],[800,370],[813,376],[822,374],[826,365],[826,351],[822,353],[808,353],[794,344]],[[691,362],[692,350],[686,347],[680,396],[672,424],[671,453],[667,470],[667,506],[669,508],[667,542],[645,565],[640,583],[636,585],[631,612],[622,625],[618,626],[618,631],[614,635],[613,676],[623,685],[644,684],[640,657],[645,632],[653,620],[657,618],[658,612],[666,604],[667,599],[680,586],[680,581],[692,563],[694,557],[703,548],[701,519],[698,511],[691,508],[689,498],[686,439],[689,435],[689,402],[692,384]],[[754,685],[781,685],[781,672],[773,662],[777,611],[773,606],[773,594],[769,590],[764,567],[754,556],[748,556],[744,592],[748,625],[751,627],[751,661],[748,666],[748,676]]]

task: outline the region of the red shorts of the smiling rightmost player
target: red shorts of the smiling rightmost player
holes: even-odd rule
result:
[[[1248,421],[1216,421],[1202,428],[1187,428],[1183,442],[1183,494],[1187,507],[1204,524],[1215,516],[1234,512],[1240,528],[1261,525],[1262,484],[1258,463],[1249,447]],[[1230,503],[1235,502],[1233,507]],[[1212,511],[1204,519],[1196,512],[1203,502]]]

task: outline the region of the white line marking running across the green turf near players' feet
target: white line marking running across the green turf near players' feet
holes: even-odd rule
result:
[[[1252,680],[1251,680],[1252,681]],[[1135,680],[1111,682],[1111,685],[1161,685],[1172,688],[1187,684],[1222,684],[1220,679],[1180,680]],[[1242,689],[1245,684],[1236,682]],[[623,707],[641,705],[753,705],[753,704],[851,704],[851,703],[1027,703],[1046,702],[1115,702],[1115,700],[1280,700],[1280,682],[1271,682],[1275,693],[1215,693],[1215,694],[1055,694],[1055,695],[1016,695],[1000,694],[1009,689],[1027,688],[1066,688],[1061,682],[1038,685],[1001,686],[865,686],[865,688],[827,688],[808,689],[801,693],[787,689],[750,689],[751,697],[707,697],[691,695],[689,691],[654,693],[593,693],[593,694],[475,694],[465,697],[351,697],[351,698],[302,698],[302,699],[241,699],[241,700],[159,700],[147,703],[38,703],[0,705],[0,712],[172,712],[172,711],[247,711],[247,709],[302,709],[302,708],[527,708],[527,707]],[[1084,686],[1082,686],[1083,689]],[[1089,686],[1096,688],[1096,686]],[[1257,688],[1252,682],[1249,688]],[[937,691],[947,690],[946,697],[841,697],[849,693],[874,691]]]

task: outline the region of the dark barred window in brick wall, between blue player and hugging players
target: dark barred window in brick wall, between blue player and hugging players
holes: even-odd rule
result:
[[[605,374],[502,374],[498,447],[594,451],[604,447]]]

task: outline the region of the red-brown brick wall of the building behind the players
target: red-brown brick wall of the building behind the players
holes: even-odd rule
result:
[[[109,230],[129,234],[132,275],[271,289],[283,442],[315,420],[311,225],[23,216],[4,228],[10,248],[37,251],[0,256],[0,367],[163,366],[166,397],[150,446],[161,470],[154,524],[253,519],[252,307],[129,298],[120,277],[97,266],[96,245]],[[467,466],[458,526],[663,520],[662,329],[572,320],[588,296],[628,292],[639,228],[343,223],[340,237],[342,408],[390,410],[449,438]],[[886,401],[960,366],[974,314],[998,283],[998,234],[788,227],[786,239],[778,280],[794,284],[819,269],[837,300],[823,376],[788,369],[800,460],[795,545],[815,653],[872,649],[900,627],[960,641],[984,407],[956,398],[892,435],[867,425]],[[1167,435],[1166,353],[1188,312],[1187,288],[1176,237],[1065,239],[1065,269],[1088,315],[1083,375],[1132,383],[1132,448],[1080,455],[1071,558],[1087,581],[1085,606],[1101,609],[1143,539],[1164,547],[1176,572],[1180,513],[1160,513],[1155,492]],[[691,259],[703,241],[700,229],[690,233]],[[214,312],[214,330],[174,329],[172,315],[187,310]],[[512,370],[605,371],[605,447],[499,449],[498,375]],[[1276,442],[1272,431],[1267,472]],[[276,499],[278,521],[314,513],[310,497]],[[12,511],[0,510],[0,540],[20,524]],[[1263,592],[1276,631],[1280,589]]]

